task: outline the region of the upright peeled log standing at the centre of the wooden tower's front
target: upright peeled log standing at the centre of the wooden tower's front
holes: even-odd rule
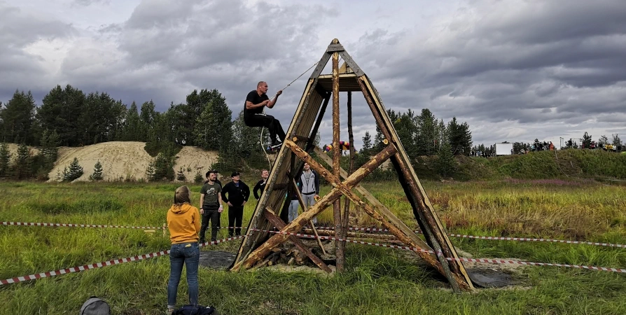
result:
[[[339,177],[341,148],[339,145],[339,52],[333,52],[333,174]],[[333,202],[333,218],[335,221],[335,239],[341,239],[341,198]],[[337,271],[344,269],[344,251],[340,241],[335,241],[335,255],[337,256]]]

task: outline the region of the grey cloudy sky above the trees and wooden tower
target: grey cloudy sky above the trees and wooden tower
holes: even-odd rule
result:
[[[387,109],[456,116],[475,144],[626,138],[626,1],[387,2],[0,0],[0,101],[71,84],[164,111],[216,88],[236,115],[257,81],[273,94],[338,38]],[[266,111],[285,129],[307,78]],[[354,100],[358,147],[375,127]]]

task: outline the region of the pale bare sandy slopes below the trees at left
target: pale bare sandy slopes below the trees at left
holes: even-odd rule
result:
[[[78,158],[85,174],[76,181],[88,181],[97,161],[102,164],[102,177],[105,181],[139,181],[146,178],[146,169],[153,160],[144,150],[144,146],[144,142],[111,141],[79,148],[60,147],[55,167],[48,176],[50,181],[55,181],[57,174],[62,174],[64,167],[69,167],[71,161]],[[176,155],[174,169],[178,172],[183,167],[187,181],[193,181],[197,171],[204,174],[216,160],[216,152],[184,147]]]

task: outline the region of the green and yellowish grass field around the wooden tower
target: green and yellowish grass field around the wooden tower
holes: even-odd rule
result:
[[[411,228],[397,183],[365,185]],[[425,182],[449,232],[626,244],[626,188],[552,179]],[[162,226],[174,183],[0,183],[1,221]],[[200,186],[190,186],[199,199]],[[324,187],[323,193],[330,188]],[[256,202],[246,206],[247,225]],[[356,214],[359,226],[375,226]],[[330,211],[319,217],[329,223]],[[222,216],[223,226],[227,216]],[[225,230],[221,231],[225,237]],[[452,238],[474,258],[626,268],[626,248]],[[236,251],[238,241],[210,246]],[[0,226],[0,279],[169,249],[161,232]],[[347,270],[225,272],[200,269],[200,302],[220,314],[626,314],[626,275],[558,267],[505,268],[518,286],[456,295],[405,251],[347,245]],[[495,266],[499,268],[499,266]],[[0,286],[0,314],[78,314],[90,295],[112,314],[164,314],[169,258]],[[179,305],[186,302],[186,283]]]

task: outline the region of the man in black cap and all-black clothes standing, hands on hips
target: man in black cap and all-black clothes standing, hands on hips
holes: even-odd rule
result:
[[[239,175],[239,172],[230,174],[232,181],[222,190],[222,200],[228,204],[228,237],[232,237],[233,230],[235,235],[242,235],[244,205],[250,197],[250,188],[239,179]]]

